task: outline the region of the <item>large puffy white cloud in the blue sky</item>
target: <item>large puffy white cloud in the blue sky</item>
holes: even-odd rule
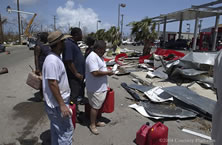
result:
[[[68,26],[87,28],[87,31],[95,32],[97,28],[97,20],[99,20],[98,14],[96,14],[91,8],[83,8],[79,5],[74,8],[74,1],[68,0],[65,7],[58,7],[56,12],[58,15],[57,26],[68,29]],[[102,21],[102,20],[101,20]],[[99,29],[109,29],[111,25],[108,23],[99,23]]]

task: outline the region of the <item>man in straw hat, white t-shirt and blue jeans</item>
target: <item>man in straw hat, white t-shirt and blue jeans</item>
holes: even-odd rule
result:
[[[70,111],[70,87],[65,66],[60,58],[64,49],[64,40],[70,36],[60,31],[49,34],[48,43],[51,52],[46,57],[42,68],[42,87],[45,110],[50,120],[51,144],[71,145],[73,124]]]

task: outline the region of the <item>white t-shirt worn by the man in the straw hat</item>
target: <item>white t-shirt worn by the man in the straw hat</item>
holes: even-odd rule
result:
[[[56,54],[49,54],[42,67],[42,87],[43,95],[47,105],[51,108],[59,106],[56,98],[49,88],[48,79],[57,80],[60,94],[65,103],[68,103],[70,97],[70,88],[65,66]]]

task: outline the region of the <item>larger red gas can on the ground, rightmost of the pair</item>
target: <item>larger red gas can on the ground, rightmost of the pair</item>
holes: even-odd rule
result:
[[[168,127],[158,122],[152,126],[148,133],[147,145],[167,145]]]

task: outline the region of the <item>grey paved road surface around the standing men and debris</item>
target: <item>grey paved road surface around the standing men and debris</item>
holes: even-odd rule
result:
[[[135,47],[136,48],[136,47]],[[139,49],[139,48],[136,48]],[[44,112],[44,104],[34,102],[38,91],[25,84],[30,68],[33,65],[33,51],[27,47],[13,47],[11,54],[0,54],[0,67],[8,67],[9,73],[0,75],[0,144],[1,145],[49,145],[49,121]],[[109,122],[99,128],[100,135],[90,133],[86,120],[77,124],[74,133],[75,145],[134,145],[136,131],[146,122],[155,120],[142,117],[128,108],[133,102],[131,96],[120,86],[121,82],[132,83],[130,76],[109,77],[110,86],[115,90],[115,111],[103,115]],[[80,106],[84,111],[84,107]],[[82,115],[82,119],[85,119]],[[189,127],[201,130],[209,125],[203,119],[168,120],[168,145],[201,145],[210,144],[193,135],[181,132],[178,127]],[[205,134],[209,135],[209,131]]]

